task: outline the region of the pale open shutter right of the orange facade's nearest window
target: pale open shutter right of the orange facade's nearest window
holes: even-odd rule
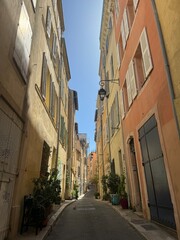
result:
[[[146,33],[145,28],[140,37],[140,45],[141,45],[141,51],[142,51],[142,56],[143,56],[145,75],[147,78],[147,76],[149,75],[150,71],[153,68],[153,65],[152,65],[151,54],[150,54],[149,44],[148,44],[148,38],[147,38],[147,33]]]

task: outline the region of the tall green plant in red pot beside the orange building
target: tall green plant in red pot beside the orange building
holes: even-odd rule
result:
[[[125,179],[126,179],[125,175],[121,174],[118,192],[119,192],[119,196],[120,196],[120,204],[121,204],[123,209],[128,208],[128,195],[127,195],[127,192],[126,192]]]

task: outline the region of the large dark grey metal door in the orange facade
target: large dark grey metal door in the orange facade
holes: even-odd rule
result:
[[[141,127],[139,140],[151,219],[168,227],[176,228],[155,116],[152,116]]]

